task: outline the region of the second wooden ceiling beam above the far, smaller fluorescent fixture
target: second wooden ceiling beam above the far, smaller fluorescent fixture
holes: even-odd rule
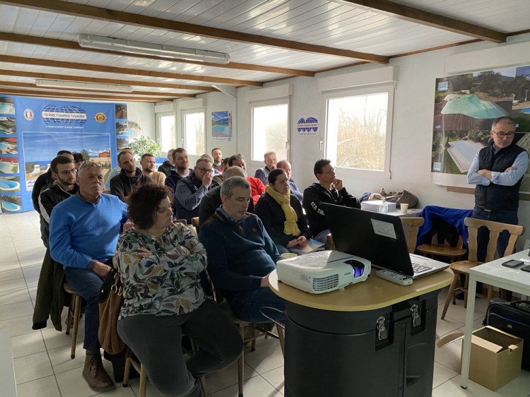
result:
[[[0,55],[0,62],[8,62],[11,64],[49,66],[52,68],[81,69],[81,70],[86,70],[86,71],[100,71],[100,72],[105,72],[105,73],[129,74],[132,76],[174,78],[177,80],[203,81],[205,83],[254,85],[255,87],[261,87],[263,85],[263,83],[259,83],[259,81],[237,80],[235,78],[194,76],[192,74],[148,71],[144,69],[126,69],[126,68],[117,68],[115,66],[101,66],[101,65],[93,65],[93,64],[77,64],[75,62],[49,61],[47,59],[11,57],[8,55]]]

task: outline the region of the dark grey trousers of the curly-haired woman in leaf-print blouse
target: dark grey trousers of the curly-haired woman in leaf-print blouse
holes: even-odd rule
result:
[[[213,300],[187,314],[129,316],[117,328],[164,396],[199,396],[197,378],[228,367],[243,350],[237,328]],[[183,334],[199,345],[189,360],[182,355]]]

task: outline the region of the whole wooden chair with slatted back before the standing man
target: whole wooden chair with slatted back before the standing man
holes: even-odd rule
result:
[[[466,218],[464,223],[468,227],[469,232],[469,260],[468,261],[458,261],[453,262],[449,267],[454,273],[453,282],[449,287],[449,293],[447,294],[447,299],[445,300],[444,309],[442,311],[442,320],[445,318],[447,313],[447,307],[449,307],[449,302],[453,300],[453,304],[456,304],[455,296],[457,290],[464,291],[464,307],[467,307],[467,288],[469,285],[469,269],[475,266],[481,265],[484,262],[477,261],[477,237],[478,229],[480,227],[487,227],[490,232],[490,241],[488,242],[488,250],[486,252],[485,261],[490,262],[495,259],[495,251],[497,251],[497,240],[499,239],[500,232],[507,230],[510,233],[510,239],[508,240],[508,245],[506,250],[503,253],[499,253],[502,256],[511,255],[515,251],[515,244],[520,235],[524,233],[524,227],[519,225],[508,225],[507,223],[492,222],[490,220],[481,220],[474,218]],[[460,275],[464,274],[466,280],[464,282],[464,287],[456,288],[457,283],[459,282]],[[488,285],[488,303],[491,300],[491,295],[493,294],[493,287]]]

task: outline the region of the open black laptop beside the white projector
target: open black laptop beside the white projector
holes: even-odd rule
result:
[[[337,251],[360,256],[375,268],[410,278],[422,278],[449,267],[449,263],[409,254],[403,224],[394,215],[322,203]]]

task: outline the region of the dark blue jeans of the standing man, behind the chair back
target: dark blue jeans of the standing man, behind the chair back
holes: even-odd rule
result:
[[[473,214],[471,218],[492,220],[493,222],[509,223],[510,225],[517,225],[517,211],[502,211],[502,212],[489,212],[481,208],[473,208]],[[510,239],[510,233],[507,230],[500,233],[499,239],[497,240],[497,251],[499,256],[505,254],[508,240]],[[488,242],[490,241],[490,233],[485,227],[478,229],[477,237],[477,260],[479,262],[485,261],[486,252],[488,250]]]

